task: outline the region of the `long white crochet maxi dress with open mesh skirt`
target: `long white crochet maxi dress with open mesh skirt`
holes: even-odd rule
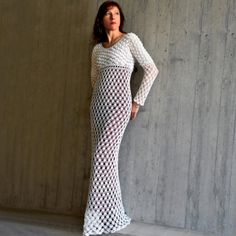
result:
[[[158,69],[139,37],[127,33],[113,46],[99,43],[92,51],[92,163],[84,236],[113,233],[131,221],[122,203],[118,153],[131,115],[135,60],[144,69],[144,77],[133,100],[143,106]]]

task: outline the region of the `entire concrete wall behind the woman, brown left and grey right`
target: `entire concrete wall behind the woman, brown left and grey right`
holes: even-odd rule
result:
[[[0,2],[0,205],[82,215],[102,1]],[[236,1],[119,1],[160,70],[120,149],[137,221],[236,233]],[[132,86],[142,77],[139,68]]]

